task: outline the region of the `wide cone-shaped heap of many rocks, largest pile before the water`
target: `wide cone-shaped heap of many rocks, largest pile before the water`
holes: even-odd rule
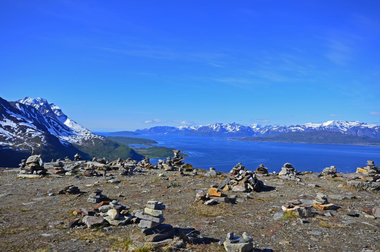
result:
[[[245,169],[241,163],[234,166],[229,175],[218,185],[218,189],[247,193],[253,190],[261,191],[264,188],[264,183],[258,180],[252,171]]]

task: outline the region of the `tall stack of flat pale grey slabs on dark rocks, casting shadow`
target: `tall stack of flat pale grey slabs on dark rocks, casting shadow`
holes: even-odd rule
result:
[[[136,245],[149,243],[154,246],[163,246],[173,241],[173,226],[164,224],[163,210],[165,205],[158,201],[148,201],[144,210],[133,211],[138,218],[141,234],[134,237]]]

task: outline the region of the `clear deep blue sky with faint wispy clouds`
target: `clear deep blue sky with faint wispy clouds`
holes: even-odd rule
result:
[[[43,97],[93,131],[380,123],[378,1],[0,6],[0,96]]]

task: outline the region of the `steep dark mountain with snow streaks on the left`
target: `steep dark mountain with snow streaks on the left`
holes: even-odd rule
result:
[[[15,167],[27,158],[32,148],[44,161],[94,156],[115,160],[143,156],[126,145],[93,134],[71,120],[62,110],[42,98],[8,102],[0,97],[0,167]]]

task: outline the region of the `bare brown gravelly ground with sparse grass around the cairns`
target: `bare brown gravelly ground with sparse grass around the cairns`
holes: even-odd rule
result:
[[[178,171],[145,169],[140,175],[131,176],[111,171],[109,177],[47,175],[29,179],[17,178],[18,173],[19,169],[6,169],[0,175],[2,251],[128,251],[129,238],[141,230],[136,223],[97,228],[67,226],[78,217],[73,211],[95,206],[87,198],[96,189],[130,206],[130,213],[143,209],[147,201],[163,202],[165,223],[195,229],[180,251],[226,251],[219,241],[223,243],[229,232],[250,234],[255,251],[380,250],[380,218],[363,209],[379,206],[380,194],[347,186],[345,178],[301,173],[298,175],[301,181],[297,182],[263,174],[258,179],[266,185],[264,191],[223,191],[231,203],[209,206],[204,201],[195,202],[196,193],[207,192],[207,188],[219,184],[228,174],[207,177],[206,171],[201,170],[198,175],[187,175],[187,172],[180,175]],[[356,175],[343,174],[343,177]],[[109,182],[112,177],[115,179],[112,181],[120,183]],[[57,194],[68,185],[78,187],[80,193]],[[335,207],[321,210],[314,206],[312,216],[302,218],[283,212],[282,206],[291,200],[312,205],[317,193],[327,195],[328,202]]]

